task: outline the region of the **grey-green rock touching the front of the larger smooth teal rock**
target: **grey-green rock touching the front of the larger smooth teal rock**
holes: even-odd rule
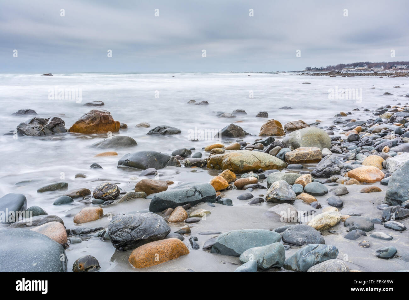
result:
[[[266,246],[247,249],[240,255],[240,262],[256,261],[257,267],[262,270],[281,268],[285,261],[283,244],[277,242]]]

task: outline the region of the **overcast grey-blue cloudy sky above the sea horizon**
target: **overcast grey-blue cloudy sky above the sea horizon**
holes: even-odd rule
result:
[[[269,72],[406,61],[408,12],[407,0],[0,0],[0,72]]]

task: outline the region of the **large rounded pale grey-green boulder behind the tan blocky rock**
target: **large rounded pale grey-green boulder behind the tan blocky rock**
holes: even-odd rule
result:
[[[331,138],[322,129],[307,127],[290,132],[283,139],[283,144],[292,150],[299,147],[318,147],[322,150],[331,148]]]

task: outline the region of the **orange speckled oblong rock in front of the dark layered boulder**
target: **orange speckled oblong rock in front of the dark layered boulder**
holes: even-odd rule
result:
[[[149,242],[136,248],[129,256],[129,263],[140,269],[174,260],[186,254],[189,254],[189,249],[181,240],[169,238]]]

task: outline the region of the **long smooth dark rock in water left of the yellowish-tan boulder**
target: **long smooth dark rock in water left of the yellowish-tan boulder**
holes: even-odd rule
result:
[[[142,170],[149,168],[162,169],[167,166],[180,167],[180,162],[174,156],[156,151],[128,153],[118,160],[118,167],[131,167]]]

